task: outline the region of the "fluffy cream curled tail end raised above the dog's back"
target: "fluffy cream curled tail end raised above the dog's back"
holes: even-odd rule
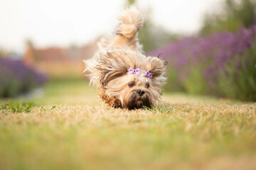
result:
[[[142,14],[139,10],[131,6],[122,13],[119,20],[121,23],[117,26],[115,33],[123,35],[125,38],[132,39],[134,36],[137,37],[137,32],[143,26]]]

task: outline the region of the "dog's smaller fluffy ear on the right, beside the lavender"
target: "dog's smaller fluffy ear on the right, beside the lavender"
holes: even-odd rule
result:
[[[149,69],[149,72],[153,74],[153,78],[164,74],[168,64],[167,62],[158,57],[146,57],[146,60],[146,69]]]

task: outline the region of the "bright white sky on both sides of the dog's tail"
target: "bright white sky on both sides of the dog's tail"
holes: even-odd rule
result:
[[[173,33],[193,34],[203,13],[223,0],[137,0],[151,6],[156,25]],[[0,0],[0,48],[24,52],[25,40],[36,47],[84,45],[112,33],[124,0]]]

